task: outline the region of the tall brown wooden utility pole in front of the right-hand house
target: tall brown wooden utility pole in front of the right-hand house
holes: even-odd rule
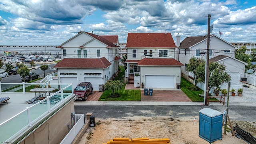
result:
[[[205,106],[208,106],[208,96],[209,96],[208,83],[209,83],[210,20],[211,20],[211,15],[208,14],[207,50],[206,50],[206,65],[205,65],[205,77],[204,77],[204,83],[205,83],[204,105]]]

